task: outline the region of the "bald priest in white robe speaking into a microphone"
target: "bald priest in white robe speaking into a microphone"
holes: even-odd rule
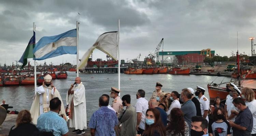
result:
[[[67,92],[67,105],[70,111],[70,128],[75,128],[72,133],[81,135],[87,129],[85,87],[79,77],[75,78],[75,85]]]

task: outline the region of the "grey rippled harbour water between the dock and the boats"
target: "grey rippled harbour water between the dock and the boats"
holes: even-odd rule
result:
[[[68,72],[68,71],[67,71]],[[94,74],[79,74],[86,89],[86,108],[87,120],[91,117],[98,106],[99,97],[102,94],[110,94],[111,87],[118,88],[118,74],[117,73],[94,73]],[[64,105],[66,106],[66,93],[76,77],[75,72],[68,72],[68,79],[53,80],[54,86],[60,92]],[[146,92],[145,98],[150,99],[152,92],[155,89],[156,82],[160,82],[165,92],[178,91],[181,92],[183,88],[196,88],[197,85],[207,89],[207,84],[211,83],[217,77],[207,75],[171,75],[171,74],[152,74],[152,75],[127,75],[121,73],[121,98],[123,95],[131,95],[131,104],[135,105],[136,92],[138,89],[143,89]],[[224,80],[223,80],[224,79]],[[228,77],[218,77],[214,83],[221,83],[229,81]],[[4,86],[0,87],[0,102],[2,99],[6,100],[6,104],[13,106],[13,109],[20,111],[22,109],[30,109],[33,97],[34,86]],[[205,96],[209,98],[208,92]],[[110,99],[110,105],[113,99]]]

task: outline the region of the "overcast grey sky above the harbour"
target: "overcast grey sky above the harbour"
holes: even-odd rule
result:
[[[74,29],[80,21],[81,58],[100,34],[117,31],[117,19],[121,59],[141,53],[143,60],[161,38],[164,51],[210,48],[215,54],[230,56],[237,50],[237,31],[239,52],[251,55],[248,38],[256,37],[255,14],[254,0],[1,0],[0,63],[10,65],[20,59],[33,35],[33,22],[37,42]],[[96,58],[106,60],[106,54],[94,51]],[[67,54],[46,63],[73,64],[75,59],[76,55]]]

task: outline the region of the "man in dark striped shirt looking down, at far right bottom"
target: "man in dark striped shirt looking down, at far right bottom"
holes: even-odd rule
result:
[[[236,120],[234,122],[229,121],[229,125],[233,130],[233,136],[251,136],[253,129],[253,115],[250,109],[240,97],[235,98],[233,104],[240,110]],[[234,114],[234,111],[231,111],[231,113]]]

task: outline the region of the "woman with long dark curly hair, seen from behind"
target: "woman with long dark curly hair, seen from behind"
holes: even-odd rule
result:
[[[180,108],[171,110],[170,122],[167,126],[167,136],[189,136],[188,123],[183,118]]]

